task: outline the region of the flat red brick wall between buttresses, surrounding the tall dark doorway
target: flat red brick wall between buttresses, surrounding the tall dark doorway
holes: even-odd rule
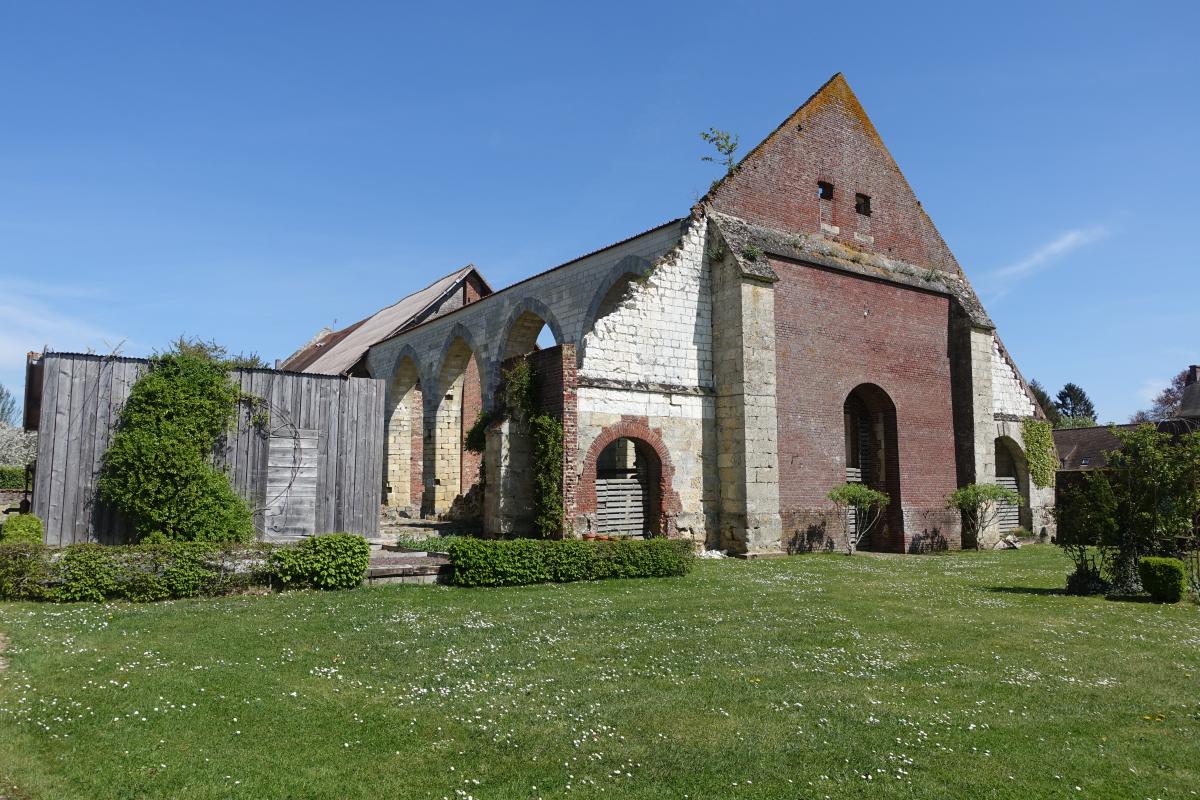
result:
[[[900,500],[893,528],[912,549],[924,539],[959,545],[950,397],[949,299],[862,277],[772,259],[775,284],[780,511],[792,549],[840,536],[826,493],[845,481],[842,408],[860,384],[876,384],[896,408]],[[893,501],[895,499],[893,498]],[[900,516],[902,515],[902,516]],[[824,530],[821,527],[824,525]],[[895,531],[899,533],[899,531]]]

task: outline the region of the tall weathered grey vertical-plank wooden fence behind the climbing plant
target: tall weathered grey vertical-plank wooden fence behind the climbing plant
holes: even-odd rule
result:
[[[48,545],[128,541],[130,525],[96,498],[96,477],[130,389],[149,362],[119,356],[47,353],[29,380],[41,386],[32,511]],[[241,405],[236,427],[214,462],[254,510],[259,539],[379,531],[384,384],[274,369],[238,369],[242,392],[268,402],[256,425]]]

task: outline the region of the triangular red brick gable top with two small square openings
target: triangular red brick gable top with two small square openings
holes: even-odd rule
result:
[[[755,224],[962,275],[840,72],[706,199]]]

